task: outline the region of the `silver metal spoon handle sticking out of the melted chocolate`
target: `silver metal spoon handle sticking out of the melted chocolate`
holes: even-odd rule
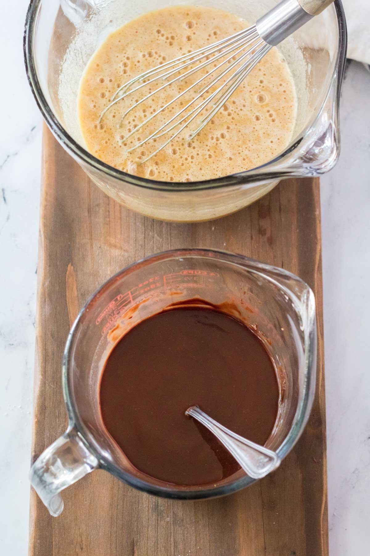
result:
[[[252,479],[262,479],[262,477],[268,475],[268,473],[271,473],[271,471],[277,469],[280,465],[281,459],[274,451],[226,429],[225,426],[217,423],[217,421],[204,413],[197,405],[192,405],[188,408],[185,411],[185,415],[193,417],[199,423],[206,426],[220,440],[221,444],[229,450],[237,463]]]

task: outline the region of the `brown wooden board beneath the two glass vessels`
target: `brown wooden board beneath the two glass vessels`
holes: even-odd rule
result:
[[[52,518],[31,492],[30,556],[327,556],[327,478],[319,182],[281,182],[224,219],[171,224],[104,195],[45,127],[38,262],[32,462],[62,434],[61,364],[70,325],[87,297],[122,267],[179,247],[214,247],[282,266],[317,301],[317,388],[295,449],[272,475],[239,493],[165,500],[94,471],[64,490]]]

